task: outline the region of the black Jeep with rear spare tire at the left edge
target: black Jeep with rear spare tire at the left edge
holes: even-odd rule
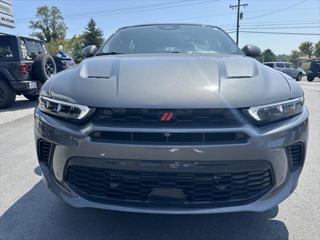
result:
[[[55,72],[43,41],[0,33],[0,109],[12,105],[15,95],[36,100],[43,82]]]

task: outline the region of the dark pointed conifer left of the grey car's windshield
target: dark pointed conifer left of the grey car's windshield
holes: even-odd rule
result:
[[[89,22],[83,31],[83,43],[85,46],[96,45],[99,48],[103,42],[103,30],[101,28],[96,28],[96,22],[93,18],[90,18]]]

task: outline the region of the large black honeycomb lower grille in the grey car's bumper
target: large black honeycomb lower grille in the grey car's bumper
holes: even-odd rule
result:
[[[261,196],[272,187],[270,168],[241,172],[191,173],[114,170],[69,165],[67,184],[93,200],[152,204],[155,188],[181,189],[184,204],[234,204]]]

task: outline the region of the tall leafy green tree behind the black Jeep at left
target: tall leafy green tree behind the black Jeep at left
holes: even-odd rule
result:
[[[30,20],[29,28],[33,30],[29,35],[45,42],[52,39],[64,39],[67,27],[63,16],[56,6],[40,6],[36,9],[36,21]],[[34,31],[37,30],[37,31]]]

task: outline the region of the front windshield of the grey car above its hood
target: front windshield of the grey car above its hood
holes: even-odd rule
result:
[[[229,53],[243,55],[221,29],[202,25],[145,25],[116,31],[97,51],[116,53]]]

